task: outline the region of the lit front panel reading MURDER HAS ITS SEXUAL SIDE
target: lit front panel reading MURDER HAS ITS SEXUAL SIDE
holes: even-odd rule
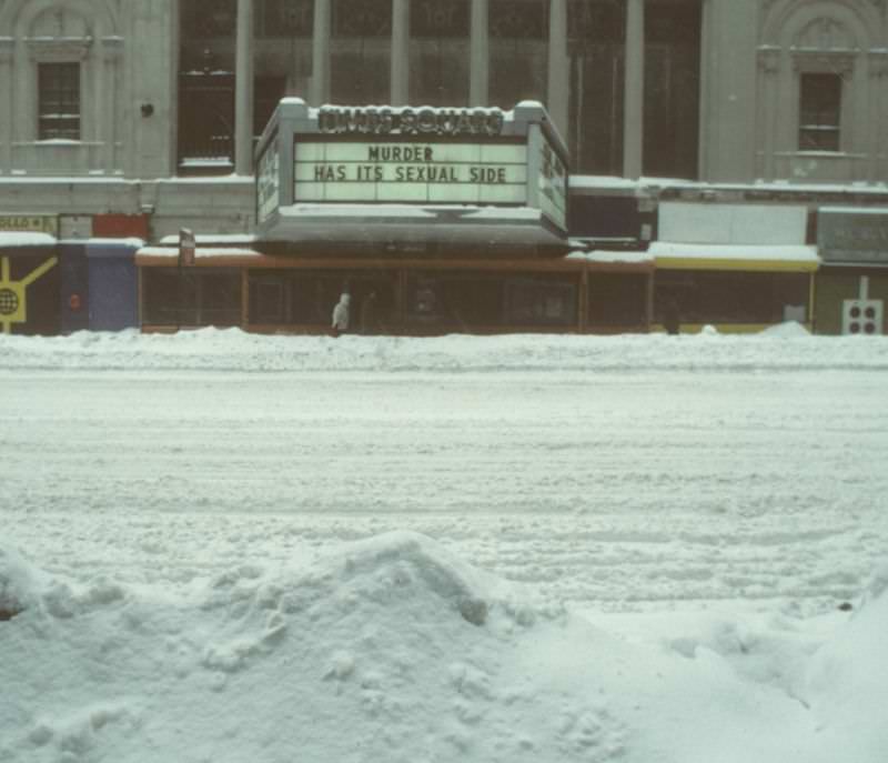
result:
[[[524,204],[524,143],[294,145],[294,201]]]

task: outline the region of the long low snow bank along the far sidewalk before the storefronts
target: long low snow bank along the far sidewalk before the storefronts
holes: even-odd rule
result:
[[[811,337],[798,324],[751,335],[506,334],[498,337],[260,335],[240,329],[179,334],[0,335],[6,369],[221,371],[713,371],[884,370],[888,338]]]

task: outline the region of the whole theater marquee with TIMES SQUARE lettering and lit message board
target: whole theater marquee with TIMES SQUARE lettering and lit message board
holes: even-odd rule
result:
[[[545,109],[310,108],[256,151],[260,240],[566,249],[567,152]]]

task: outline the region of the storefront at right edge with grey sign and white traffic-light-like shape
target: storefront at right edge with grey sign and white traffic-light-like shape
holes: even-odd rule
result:
[[[817,243],[824,261],[817,279],[817,333],[886,333],[888,211],[821,208]]]

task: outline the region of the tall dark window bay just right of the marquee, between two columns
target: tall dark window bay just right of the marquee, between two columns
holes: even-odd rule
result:
[[[572,170],[623,173],[623,0],[568,0],[571,57],[568,142]]]

